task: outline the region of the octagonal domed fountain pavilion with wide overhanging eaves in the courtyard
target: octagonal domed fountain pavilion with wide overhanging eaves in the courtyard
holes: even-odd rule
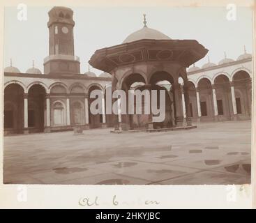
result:
[[[123,43],[96,50],[89,63],[93,68],[112,75],[112,91],[166,91],[165,120],[162,123],[153,123],[152,114],[119,114],[116,132],[191,128],[186,68],[204,58],[207,52],[208,49],[197,40],[173,40],[150,29],[146,26],[145,15],[144,27],[131,33]],[[183,118],[184,114],[186,118]]]

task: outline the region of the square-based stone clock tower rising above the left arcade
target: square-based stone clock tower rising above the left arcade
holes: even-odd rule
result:
[[[48,15],[49,56],[44,60],[44,73],[79,74],[80,60],[74,52],[73,10],[54,7]]]

